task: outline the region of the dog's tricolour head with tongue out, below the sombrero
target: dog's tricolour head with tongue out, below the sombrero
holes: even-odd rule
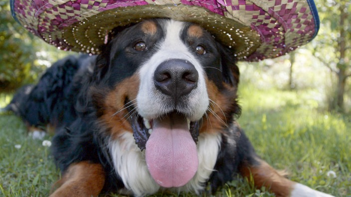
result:
[[[198,166],[198,135],[220,132],[240,111],[234,56],[196,24],[128,27],[103,49],[94,73],[93,102],[109,135],[133,132],[163,187],[186,184]]]

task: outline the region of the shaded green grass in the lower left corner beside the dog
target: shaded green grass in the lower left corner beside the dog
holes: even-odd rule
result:
[[[0,196],[47,196],[58,175],[49,148],[14,115],[0,115],[0,125]]]

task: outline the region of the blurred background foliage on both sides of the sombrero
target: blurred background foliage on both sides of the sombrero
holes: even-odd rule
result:
[[[321,108],[351,112],[351,2],[315,2],[321,27],[311,43],[274,60],[242,63],[241,69],[250,69],[251,82],[263,89],[315,89]],[[47,66],[68,55],[17,24],[8,0],[0,0],[0,12],[0,92],[35,82]]]

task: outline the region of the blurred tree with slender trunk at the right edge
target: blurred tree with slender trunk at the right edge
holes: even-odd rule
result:
[[[333,73],[338,82],[330,109],[344,111],[347,80],[351,77],[351,2],[350,0],[316,0],[321,29],[313,54]]]

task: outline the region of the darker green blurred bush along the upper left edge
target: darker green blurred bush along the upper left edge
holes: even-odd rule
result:
[[[8,1],[0,0],[0,90],[31,82],[30,69],[36,58],[31,38],[9,11]]]

